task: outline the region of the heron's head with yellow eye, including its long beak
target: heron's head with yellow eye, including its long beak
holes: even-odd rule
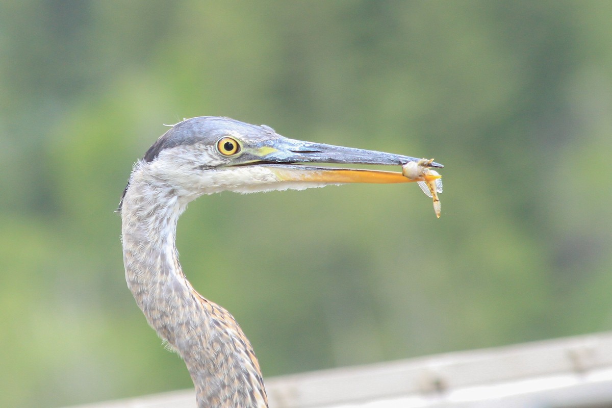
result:
[[[132,177],[144,171],[148,179],[166,185],[177,196],[190,201],[203,194],[226,190],[247,193],[351,182],[410,182],[413,180],[400,172],[317,164],[399,166],[418,160],[289,139],[266,125],[223,117],[194,117],[179,122],[162,135],[147,150],[143,160],[136,163]],[[432,166],[442,167],[438,163]]]

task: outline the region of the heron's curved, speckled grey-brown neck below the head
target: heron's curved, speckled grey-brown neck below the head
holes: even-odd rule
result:
[[[125,279],[149,325],[185,361],[198,406],[267,407],[255,353],[234,318],[201,297],[182,273],[171,190],[133,177],[122,204]]]

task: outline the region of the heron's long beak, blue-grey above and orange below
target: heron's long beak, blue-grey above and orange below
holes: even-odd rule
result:
[[[344,183],[408,183],[432,181],[440,176],[422,174],[408,178],[401,172],[374,169],[334,168],[312,166],[312,163],[349,164],[349,165],[396,165],[402,166],[411,161],[422,160],[376,150],[354,149],[352,147],[330,144],[310,143],[288,138],[267,141],[253,149],[253,164],[271,169],[278,179],[285,181]],[[299,163],[307,163],[299,164]],[[431,162],[430,167],[442,168],[439,163]]]

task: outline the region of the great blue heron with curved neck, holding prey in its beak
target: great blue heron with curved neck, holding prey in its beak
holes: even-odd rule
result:
[[[147,150],[119,204],[125,278],[151,327],[185,361],[199,407],[267,407],[267,396],[253,348],[234,317],[196,292],[181,270],[174,237],[187,203],[227,190],[410,182],[398,172],[296,163],[413,161],[419,159],[288,139],[270,127],[222,117],[179,122]]]

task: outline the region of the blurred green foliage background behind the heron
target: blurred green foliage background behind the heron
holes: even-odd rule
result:
[[[0,406],[192,387],[114,209],[183,117],[444,163],[201,198],[188,278],[265,377],[612,329],[612,2],[3,1]],[[606,181],[607,180],[607,181]]]

